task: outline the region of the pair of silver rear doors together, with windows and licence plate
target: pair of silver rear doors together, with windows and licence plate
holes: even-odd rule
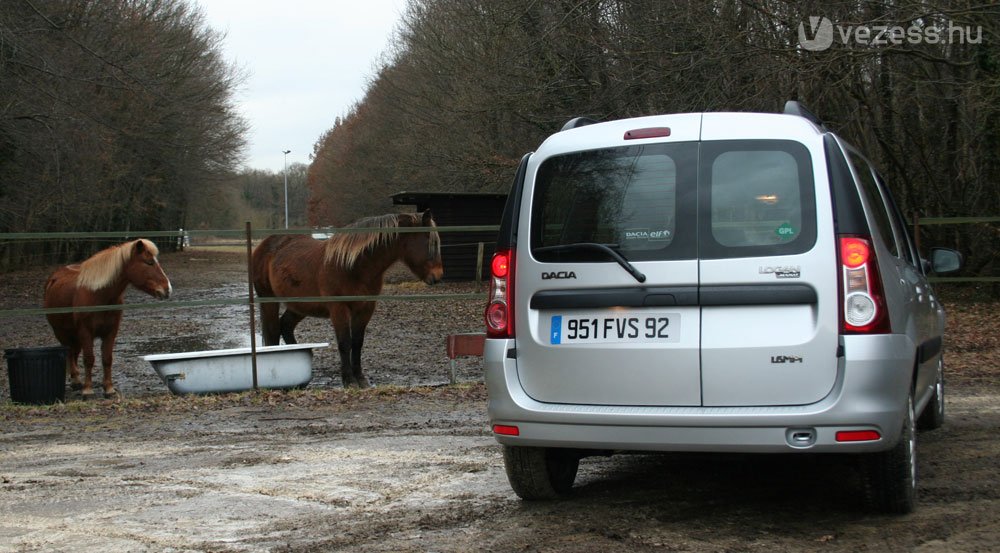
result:
[[[829,188],[822,136],[797,117],[694,117],[664,118],[669,141],[608,147],[632,129],[602,124],[571,131],[590,142],[568,153],[543,144],[533,156],[513,294],[517,371],[534,399],[802,405],[832,390],[837,250],[829,192],[816,193]],[[741,132],[755,138],[720,138]]]

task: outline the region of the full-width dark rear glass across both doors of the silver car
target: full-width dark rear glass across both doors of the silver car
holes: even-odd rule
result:
[[[798,142],[734,140],[626,146],[553,156],[532,207],[536,259],[631,261],[786,255],[816,238],[809,151]],[[699,235],[701,236],[699,243]]]

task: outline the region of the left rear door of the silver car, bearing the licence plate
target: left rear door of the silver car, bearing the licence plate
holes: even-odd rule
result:
[[[532,215],[522,218],[514,286],[518,376],[531,397],[701,403],[698,119],[685,121],[672,122],[676,142],[622,140],[535,154],[542,161],[529,168],[534,188],[521,212]],[[596,142],[621,140],[623,129],[600,127],[607,136]]]

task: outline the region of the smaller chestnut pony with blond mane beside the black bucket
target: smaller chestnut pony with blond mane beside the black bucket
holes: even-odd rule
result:
[[[97,252],[83,263],[56,269],[45,283],[45,307],[121,305],[131,284],[151,296],[163,299],[173,288],[163,274],[156,256],[156,244],[140,239]],[[116,395],[111,382],[111,362],[115,338],[122,322],[121,310],[59,313],[46,315],[59,343],[69,349],[66,370],[70,385],[81,390],[85,399],[93,397],[94,339],[101,339],[104,367],[104,397]],[[80,382],[77,357],[83,350],[86,377]]]

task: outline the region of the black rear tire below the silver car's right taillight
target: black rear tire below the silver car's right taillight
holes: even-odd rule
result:
[[[913,419],[911,392],[899,442],[888,451],[864,456],[865,503],[873,512],[903,515],[916,506],[917,434]]]

